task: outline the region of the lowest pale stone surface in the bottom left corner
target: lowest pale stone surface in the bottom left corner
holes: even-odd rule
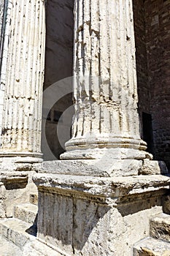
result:
[[[0,255],[1,256],[23,256],[21,249],[0,236]]]

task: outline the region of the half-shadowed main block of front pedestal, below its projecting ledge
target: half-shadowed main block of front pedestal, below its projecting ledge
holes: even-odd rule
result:
[[[132,243],[149,235],[150,215],[161,211],[161,206],[150,208],[152,203],[147,200],[117,209],[85,198],[57,195],[54,191],[39,192],[39,203],[39,212],[45,214],[38,217],[38,237],[67,255],[130,256]],[[136,211],[142,203],[144,208]],[[123,216],[127,207],[134,212]],[[139,219],[144,223],[142,227]]]

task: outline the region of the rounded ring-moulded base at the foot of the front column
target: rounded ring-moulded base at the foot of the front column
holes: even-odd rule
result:
[[[145,150],[147,144],[133,138],[71,139],[61,159],[152,159]]]

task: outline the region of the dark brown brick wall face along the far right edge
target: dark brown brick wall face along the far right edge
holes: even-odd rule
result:
[[[155,158],[170,167],[170,1],[144,1]]]

